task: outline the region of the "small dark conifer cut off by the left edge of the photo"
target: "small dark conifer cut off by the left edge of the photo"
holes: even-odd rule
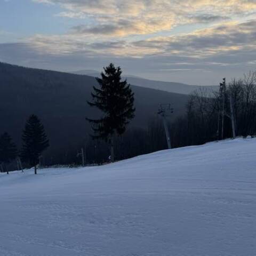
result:
[[[5,132],[0,136],[0,164],[3,171],[3,164],[9,164],[13,159],[17,157],[17,147],[12,141],[11,136]],[[7,174],[9,170],[7,169]]]

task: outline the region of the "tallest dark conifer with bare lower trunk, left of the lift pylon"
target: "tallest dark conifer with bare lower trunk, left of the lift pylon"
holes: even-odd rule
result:
[[[100,88],[93,86],[91,107],[97,107],[103,112],[99,119],[86,118],[92,123],[94,139],[104,139],[111,145],[111,162],[114,162],[114,136],[125,132],[126,125],[134,117],[134,93],[126,80],[121,81],[122,70],[113,63],[104,69],[101,78],[96,78]]]

